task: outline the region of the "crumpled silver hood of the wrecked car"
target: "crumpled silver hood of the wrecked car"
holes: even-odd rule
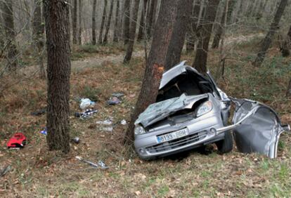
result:
[[[171,98],[160,103],[154,103],[148,106],[148,108],[138,116],[134,124],[141,124],[143,127],[147,127],[179,110],[190,109],[194,103],[203,98],[209,98],[209,93],[190,96],[182,94],[178,98]]]

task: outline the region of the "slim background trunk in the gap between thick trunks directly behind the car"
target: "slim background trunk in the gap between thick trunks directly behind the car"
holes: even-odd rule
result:
[[[198,0],[195,2],[193,14],[191,15],[191,22],[190,22],[190,25],[188,25],[188,29],[187,29],[187,34],[188,34],[188,39],[186,42],[187,52],[193,51],[195,48],[198,19],[199,19],[200,13],[202,14],[202,7],[203,7],[202,0]]]

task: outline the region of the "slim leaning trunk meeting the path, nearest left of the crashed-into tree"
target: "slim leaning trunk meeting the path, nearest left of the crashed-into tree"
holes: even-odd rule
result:
[[[140,0],[134,0],[134,11],[132,13],[132,22],[129,32],[129,43],[127,44],[127,53],[125,54],[123,63],[131,60],[132,51],[134,50],[134,39],[136,37],[136,20],[138,18],[138,7]]]

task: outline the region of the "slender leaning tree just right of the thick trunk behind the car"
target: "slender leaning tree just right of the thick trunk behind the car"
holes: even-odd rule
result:
[[[234,5],[235,5],[235,0],[226,0],[226,5],[221,17],[221,22],[220,22],[219,27],[216,30],[216,34],[212,42],[212,48],[219,47],[219,41],[221,40],[221,35],[223,35],[223,33],[226,31],[226,25],[229,25],[229,22],[231,20],[231,13],[233,11]],[[225,25],[225,19],[226,19],[226,25]]]

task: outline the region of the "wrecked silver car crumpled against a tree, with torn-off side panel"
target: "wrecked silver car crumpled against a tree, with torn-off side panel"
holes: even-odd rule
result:
[[[135,121],[138,156],[154,159],[209,143],[220,153],[231,152],[233,131],[238,150],[276,157],[280,133],[290,131],[276,112],[252,100],[228,97],[209,72],[204,76],[185,63],[164,72],[156,103]],[[236,108],[228,125],[231,103]]]

